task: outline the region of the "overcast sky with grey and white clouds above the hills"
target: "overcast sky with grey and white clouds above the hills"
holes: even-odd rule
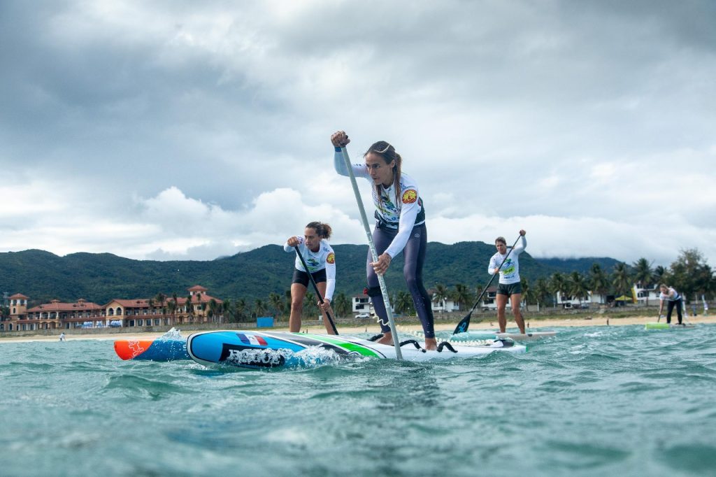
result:
[[[0,251],[364,244],[335,130],[429,241],[716,265],[716,2],[0,1]],[[369,215],[369,184],[359,185]]]

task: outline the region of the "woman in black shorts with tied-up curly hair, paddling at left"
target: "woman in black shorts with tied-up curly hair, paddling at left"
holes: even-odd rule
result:
[[[304,230],[304,236],[289,237],[284,250],[294,252],[298,246],[299,254],[304,258],[309,270],[304,269],[301,259],[296,256],[296,269],[291,283],[291,316],[289,317],[289,331],[301,331],[301,315],[304,309],[304,297],[309,286],[309,273],[318,286],[323,303],[320,300],[318,307],[323,315],[323,323],[328,334],[335,334],[326,312],[333,314],[331,300],[336,289],[336,254],[326,240],[331,236],[331,226],[327,223],[311,222]]]

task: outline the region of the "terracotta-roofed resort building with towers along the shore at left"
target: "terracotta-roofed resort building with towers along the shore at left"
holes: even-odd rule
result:
[[[187,289],[187,297],[112,299],[105,305],[78,299],[75,303],[52,300],[27,309],[28,297],[10,297],[10,315],[0,321],[0,332],[39,329],[174,326],[223,321],[223,301],[200,285]]]

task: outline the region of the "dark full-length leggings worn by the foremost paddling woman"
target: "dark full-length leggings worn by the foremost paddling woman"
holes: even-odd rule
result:
[[[373,243],[378,255],[381,255],[385,249],[390,246],[393,238],[397,235],[397,230],[392,228],[380,228],[376,227],[373,231]],[[420,318],[422,324],[422,331],[425,333],[426,338],[435,337],[435,329],[433,327],[432,317],[432,301],[430,296],[425,290],[425,286],[422,284],[422,264],[425,262],[425,248],[427,247],[427,229],[425,223],[415,226],[410,232],[410,238],[405,244],[403,249],[403,258],[405,259],[405,265],[403,266],[403,276],[405,276],[405,282],[407,283],[407,289],[412,295],[412,302],[415,304],[415,312]],[[366,264],[366,272],[368,276],[369,289],[375,290],[370,293],[373,301],[373,308],[375,313],[380,318],[380,329],[382,332],[390,332],[390,326],[388,324],[388,315],[385,311],[385,304],[383,302],[383,296],[379,291],[378,276],[370,266],[370,262],[373,261],[373,257],[368,251],[368,260]]]

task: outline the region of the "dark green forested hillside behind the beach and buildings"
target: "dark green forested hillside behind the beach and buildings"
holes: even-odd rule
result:
[[[365,286],[367,246],[334,245],[337,256],[337,292],[362,294]],[[431,242],[423,277],[425,286],[448,287],[465,284],[474,289],[490,279],[487,264],[495,247],[483,242],[453,245]],[[546,259],[529,254],[520,257],[521,276],[533,281],[555,271],[585,273],[598,262],[606,270],[614,259]],[[131,260],[112,254],[57,256],[42,250],[0,253],[0,292],[22,293],[31,304],[59,299],[74,302],[84,298],[105,304],[114,298],[148,298],[159,292],[184,297],[186,289],[200,284],[218,298],[265,299],[269,293],[283,294],[291,285],[294,254],[281,246],[267,245],[212,261]],[[391,291],[405,289],[402,255],[393,261],[386,276]]]

